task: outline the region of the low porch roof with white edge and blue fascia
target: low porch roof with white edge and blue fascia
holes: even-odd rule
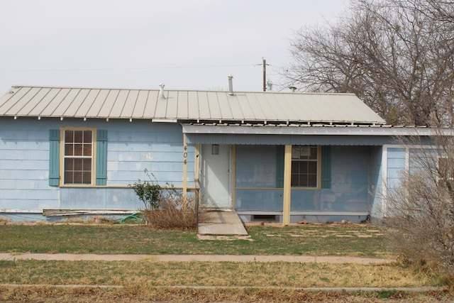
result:
[[[187,143],[240,145],[385,145],[400,137],[454,136],[452,128],[358,125],[182,124]]]

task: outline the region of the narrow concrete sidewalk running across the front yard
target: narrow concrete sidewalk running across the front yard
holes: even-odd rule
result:
[[[155,262],[294,262],[294,263],[393,263],[387,258],[309,255],[98,255],[77,253],[0,253],[0,260],[140,261]]]

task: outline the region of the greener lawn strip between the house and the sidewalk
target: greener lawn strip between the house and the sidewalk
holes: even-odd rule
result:
[[[201,241],[194,231],[143,225],[0,226],[0,252],[220,255],[388,255],[384,234],[370,225],[248,226],[253,241]]]

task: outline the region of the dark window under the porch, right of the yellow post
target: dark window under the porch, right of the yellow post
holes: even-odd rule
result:
[[[319,147],[292,146],[292,187],[319,187]]]

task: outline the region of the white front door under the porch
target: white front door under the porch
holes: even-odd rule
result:
[[[231,208],[230,145],[202,145],[201,204]]]

